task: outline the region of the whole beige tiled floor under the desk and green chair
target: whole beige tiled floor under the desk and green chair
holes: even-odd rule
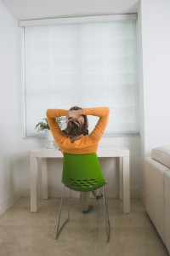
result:
[[[38,201],[39,211],[30,212],[30,200],[20,199],[0,216],[0,256],[167,256],[139,200],[131,201],[131,213],[122,213],[122,201],[107,200],[111,241],[105,242],[103,201],[94,201],[94,212],[83,215],[72,200],[71,221],[56,232],[59,199]],[[66,213],[67,200],[64,205]]]

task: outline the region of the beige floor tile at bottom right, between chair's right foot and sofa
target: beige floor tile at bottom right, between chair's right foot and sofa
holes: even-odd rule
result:
[[[104,229],[103,229],[104,230]],[[104,234],[99,231],[98,256],[167,256],[156,230],[152,228],[111,229],[111,241],[104,242]]]

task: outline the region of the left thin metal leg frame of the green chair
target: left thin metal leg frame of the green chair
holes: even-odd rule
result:
[[[62,205],[63,205],[64,193],[65,193],[65,186],[63,187],[63,191],[62,191],[62,195],[61,195],[61,201],[60,201],[60,207],[59,207],[59,220],[58,220],[57,233],[56,233],[55,239],[58,239],[58,238],[59,238],[59,234],[60,234],[61,230],[63,230],[63,228],[65,227],[65,224],[67,224],[67,222],[68,222],[69,219],[70,219],[70,212],[71,212],[71,189],[70,189],[70,196],[69,196],[69,211],[68,211],[68,217],[66,218],[64,224],[62,224],[61,227],[59,228],[60,217],[61,217],[61,211],[62,211]]]

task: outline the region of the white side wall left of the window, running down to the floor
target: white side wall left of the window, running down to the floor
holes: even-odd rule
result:
[[[20,197],[18,23],[0,3],[0,214]]]

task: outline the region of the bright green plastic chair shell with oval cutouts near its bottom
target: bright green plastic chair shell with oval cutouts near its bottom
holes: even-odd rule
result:
[[[103,177],[96,153],[64,154],[62,183],[76,191],[92,191],[103,187]]]

